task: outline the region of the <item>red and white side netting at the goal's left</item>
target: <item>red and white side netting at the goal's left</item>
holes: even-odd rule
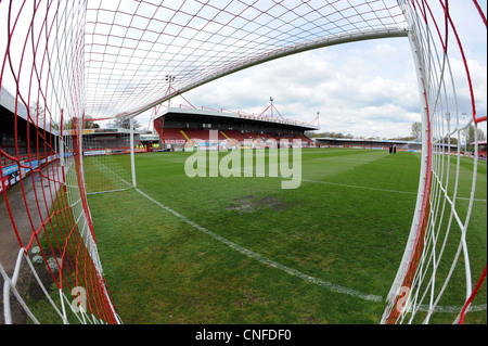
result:
[[[82,174],[85,10],[82,1],[0,3],[1,36],[7,38],[1,41],[2,119],[7,117],[9,126],[2,125],[2,133],[12,137],[12,144],[4,149],[2,140],[0,149],[0,271],[7,323],[26,322],[10,308],[15,304],[31,321],[42,322],[21,290],[29,275],[51,302],[57,322],[117,322]],[[18,178],[7,185],[10,171]]]

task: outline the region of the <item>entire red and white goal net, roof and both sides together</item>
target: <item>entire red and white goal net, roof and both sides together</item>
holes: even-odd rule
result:
[[[470,7],[479,13],[486,33],[486,15],[477,1]],[[82,134],[85,118],[137,116],[255,64],[407,33],[421,67],[423,168],[409,244],[382,321],[413,321],[425,306],[421,321],[428,321],[453,280],[451,268],[460,264],[466,285],[462,304],[470,302],[474,279],[465,234],[477,161],[474,175],[460,178],[462,153],[458,148],[451,156],[446,144],[486,116],[476,112],[468,57],[461,44],[472,33],[459,35],[448,1],[5,0],[0,15],[0,36],[5,38],[0,43],[1,102],[10,116],[2,123],[7,134],[0,148],[1,242],[20,249],[18,255],[1,252],[4,292],[12,293],[3,296],[5,322],[14,320],[10,300],[38,322],[17,285],[22,268],[27,268],[39,286],[49,286],[30,260],[35,256],[48,264],[61,297],[51,303],[63,322],[69,311],[81,322],[120,322],[98,256],[87,193],[100,190],[97,181],[110,181],[114,187],[108,190],[120,189],[120,182],[129,181],[128,169],[116,155],[84,156],[93,149],[107,153],[100,138]],[[464,65],[462,73],[452,72],[452,57]],[[458,106],[461,90],[467,90],[471,102],[466,119]],[[21,191],[9,194],[13,185]],[[467,198],[458,198],[460,189],[467,189]],[[446,246],[458,251],[440,261]],[[439,279],[438,264],[445,262]],[[76,304],[70,304],[74,297]],[[412,308],[396,309],[404,297]]]

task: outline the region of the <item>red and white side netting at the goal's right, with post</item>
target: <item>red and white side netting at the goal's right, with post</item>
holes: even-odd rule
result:
[[[424,165],[416,217],[382,322],[428,323],[435,321],[439,305],[453,302],[448,297],[458,296],[457,303],[470,302],[477,280],[472,273],[481,273],[480,282],[486,275],[486,265],[485,270],[472,268],[466,241],[476,193],[477,130],[486,115],[477,113],[484,101],[479,94],[475,97],[470,72],[473,65],[454,24],[457,13],[450,11],[447,1],[399,3],[410,25],[419,68]],[[470,10],[479,15],[477,28],[486,35],[486,15],[476,1],[472,4]],[[471,154],[464,152],[470,128],[475,159],[467,164],[462,156]],[[461,145],[452,150],[451,144],[463,141],[464,150]],[[473,172],[463,176],[461,165]],[[464,296],[454,293],[459,291]],[[464,319],[467,307],[464,304],[454,322]]]

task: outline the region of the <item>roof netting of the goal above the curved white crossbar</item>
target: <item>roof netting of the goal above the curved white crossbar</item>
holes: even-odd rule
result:
[[[396,1],[89,1],[87,113],[138,114],[321,38],[406,26]]]

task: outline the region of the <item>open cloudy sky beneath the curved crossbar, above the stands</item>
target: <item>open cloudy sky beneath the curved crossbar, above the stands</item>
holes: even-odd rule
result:
[[[471,3],[467,9],[464,0],[449,3],[468,59],[477,114],[486,115],[486,26]],[[486,1],[479,3],[486,14]],[[451,65],[453,75],[464,78],[461,57],[452,56]],[[471,114],[464,85],[459,95],[460,113]],[[395,138],[409,136],[412,123],[421,120],[418,80],[407,38],[352,42],[295,54],[184,94],[195,107],[258,114],[268,107],[270,97],[285,118],[311,121],[320,112],[320,132]],[[171,105],[180,103],[185,101],[171,101]],[[138,120],[147,127],[150,117],[146,113]],[[481,129],[486,133],[486,123]]]

